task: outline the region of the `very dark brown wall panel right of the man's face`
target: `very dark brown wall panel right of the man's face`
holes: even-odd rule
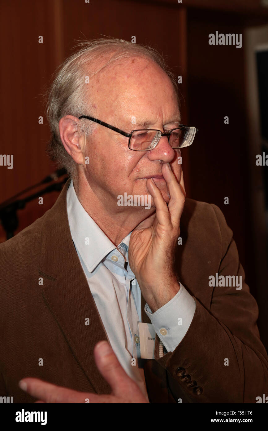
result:
[[[258,302],[259,330],[268,347],[267,271],[256,268],[255,259],[267,250],[254,247],[250,196],[249,122],[246,107],[246,40],[243,17],[227,12],[188,10],[188,103],[189,117],[199,126],[190,155],[191,194],[194,199],[215,203],[234,232],[246,283]],[[242,33],[241,48],[211,46],[208,35]],[[229,124],[224,123],[225,116]],[[229,204],[224,204],[224,198]],[[256,256],[255,256],[256,254]],[[260,265],[259,265],[260,266]],[[263,300],[265,296],[265,301]]]

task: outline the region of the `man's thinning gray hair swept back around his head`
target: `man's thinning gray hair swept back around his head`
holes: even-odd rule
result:
[[[94,100],[85,85],[85,77],[96,75],[112,62],[133,56],[141,56],[156,62],[169,76],[178,97],[177,80],[166,65],[163,55],[152,47],[132,44],[116,38],[82,41],[76,45],[77,52],[68,57],[55,71],[55,79],[49,90],[46,116],[51,129],[51,140],[47,152],[52,160],[64,167],[71,178],[76,177],[76,163],[65,150],[59,133],[59,120],[65,115],[79,117],[92,115]],[[98,69],[99,59],[108,57],[107,62]],[[89,70],[89,67],[91,70]],[[179,97],[178,97],[179,103]],[[105,119],[103,120],[105,121]],[[94,131],[96,123],[87,119],[77,122],[77,130],[88,137]]]

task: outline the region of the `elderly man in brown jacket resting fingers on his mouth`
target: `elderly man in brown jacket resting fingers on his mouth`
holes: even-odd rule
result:
[[[255,403],[268,390],[258,307],[220,209],[185,199],[180,149],[196,129],[161,56],[88,42],[47,113],[71,178],[0,247],[1,395]]]

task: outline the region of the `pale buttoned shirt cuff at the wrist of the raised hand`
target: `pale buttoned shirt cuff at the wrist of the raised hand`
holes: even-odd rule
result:
[[[173,352],[182,341],[191,325],[196,308],[194,297],[181,283],[179,285],[180,290],[175,297],[154,313],[148,303],[144,307],[145,313],[167,352]]]

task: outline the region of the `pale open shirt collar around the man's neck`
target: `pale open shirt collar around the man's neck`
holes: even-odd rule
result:
[[[74,245],[83,259],[87,270],[93,272],[102,259],[111,253],[112,250],[115,250],[116,247],[80,203],[74,190],[73,181],[71,181],[67,191],[66,203],[68,222]],[[126,244],[125,258],[127,261],[131,233],[129,232],[118,246],[120,250],[120,246]],[[86,244],[86,238],[88,238],[87,242],[89,244]]]

